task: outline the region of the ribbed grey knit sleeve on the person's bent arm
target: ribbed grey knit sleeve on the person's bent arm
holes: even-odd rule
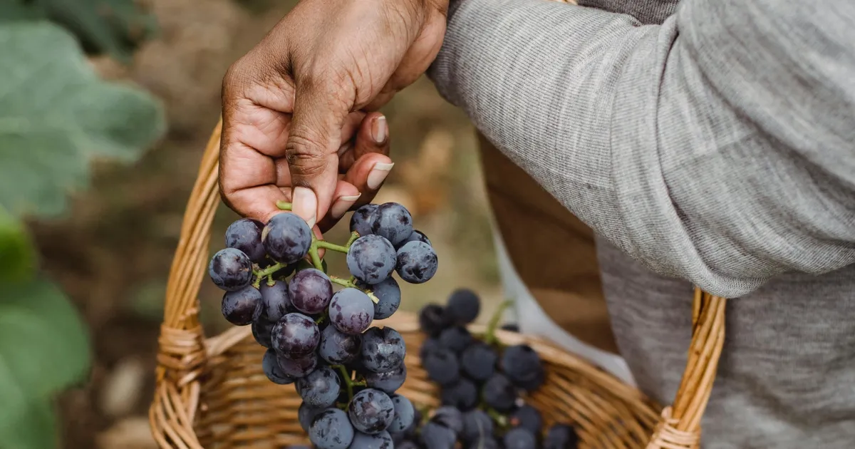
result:
[[[429,75],[597,233],[734,298],[855,263],[852,22],[851,0],[683,0],[662,25],[452,0]]]

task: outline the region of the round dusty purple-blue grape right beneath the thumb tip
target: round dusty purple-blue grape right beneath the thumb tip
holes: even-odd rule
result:
[[[270,219],[262,231],[268,256],[281,263],[298,263],[309,253],[312,230],[296,214],[282,212]]]

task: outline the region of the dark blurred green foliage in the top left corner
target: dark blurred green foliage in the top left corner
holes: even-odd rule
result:
[[[157,22],[136,0],[0,0],[0,24],[52,21],[66,28],[90,55],[130,62],[157,31]]]

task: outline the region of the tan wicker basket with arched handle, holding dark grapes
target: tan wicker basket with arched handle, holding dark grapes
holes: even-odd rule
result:
[[[157,356],[157,384],[149,418],[161,447],[192,449],[278,448],[306,444],[293,387],[268,381],[264,353],[249,327],[205,339],[198,290],[209,257],[217,190],[220,126],[205,149],[187,204],[169,275]],[[581,447],[668,448],[699,446],[700,418],[710,397],[724,340],[725,300],[696,290],[693,337],[674,405],[661,409],[645,396],[580,357],[533,337],[498,332],[506,344],[528,343],[545,361],[545,384],[528,401],[545,422],[573,422]],[[408,379],[398,393],[414,403],[437,405],[436,387],[421,369],[422,335],[415,316],[386,320],[404,335]]]

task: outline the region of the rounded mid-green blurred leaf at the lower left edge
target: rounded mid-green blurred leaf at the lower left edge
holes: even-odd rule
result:
[[[0,284],[0,398],[50,399],[89,373],[91,353],[80,315],[50,281]],[[0,407],[0,422],[9,407]],[[0,439],[2,440],[2,439]]]

